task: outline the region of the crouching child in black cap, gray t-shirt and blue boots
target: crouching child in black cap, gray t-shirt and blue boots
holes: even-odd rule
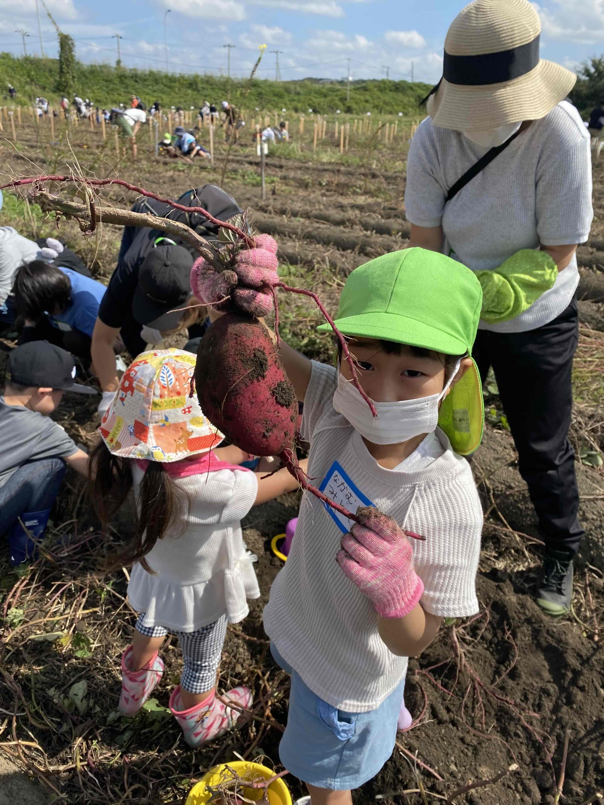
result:
[[[0,397],[0,535],[13,568],[37,556],[66,464],[87,474],[86,453],[50,419],[65,391],[97,394],[75,377],[70,353],[48,341],[9,353]]]

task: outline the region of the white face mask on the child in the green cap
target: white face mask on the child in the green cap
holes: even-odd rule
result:
[[[333,393],[333,407],[350,424],[372,444],[399,444],[420,436],[420,433],[432,433],[438,424],[438,403],[449,390],[461,360],[457,361],[447,385],[441,394],[431,394],[416,400],[401,400],[399,403],[376,403],[374,416],[370,407],[361,396],[361,392],[350,380],[346,380],[341,372],[337,376],[337,389]]]

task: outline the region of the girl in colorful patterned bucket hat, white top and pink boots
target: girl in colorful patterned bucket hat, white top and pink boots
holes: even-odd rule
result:
[[[136,358],[101,421],[90,469],[101,522],[133,486],[139,513],[113,562],[134,563],[128,597],[140,613],[122,655],[119,710],[134,716],[143,707],[163,674],[163,639],[176,634],[184,669],[170,709],[192,747],[230,729],[252,701],[246,687],[216,693],[226,625],[242,621],[246,600],[260,595],[240,521],[297,486],[285,469],[263,477],[234,464],[247,453],[216,449],[224,436],[191,394],[195,361],[180,349]]]

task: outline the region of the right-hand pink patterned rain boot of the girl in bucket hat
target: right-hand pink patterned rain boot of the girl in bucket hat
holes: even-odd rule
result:
[[[222,698],[240,704],[244,708],[250,708],[253,700],[252,692],[248,687],[234,687],[233,690],[227,691]],[[180,699],[180,685],[172,691],[169,706],[172,716],[176,718],[184,733],[184,740],[193,749],[234,727],[238,717],[241,716],[241,712],[218,700],[215,691],[212,691],[205,701],[184,710]]]

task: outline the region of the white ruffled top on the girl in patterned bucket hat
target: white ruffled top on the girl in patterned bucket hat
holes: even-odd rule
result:
[[[134,462],[132,473],[138,494],[144,473]],[[183,516],[147,554],[153,573],[134,564],[130,604],[146,613],[145,626],[194,632],[223,615],[238,623],[249,612],[247,600],[260,596],[240,522],[254,505],[256,476],[219,469],[173,480],[183,494]]]

